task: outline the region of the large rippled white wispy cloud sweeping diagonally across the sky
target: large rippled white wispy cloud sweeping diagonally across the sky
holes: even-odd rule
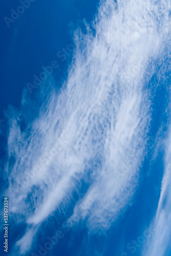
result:
[[[76,49],[61,91],[55,92],[51,78],[28,129],[20,127],[22,113],[9,117],[8,195],[18,222],[37,226],[56,208],[67,212],[82,180],[87,189],[74,201],[69,223],[76,215],[90,231],[105,230],[130,203],[151,121],[145,72],[151,68],[153,75],[155,61],[162,58],[170,32],[168,10],[165,1],[118,6],[101,1],[92,26],[85,23],[85,33],[74,33]],[[129,76],[135,68],[136,75]],[[23,109],[32,104],[26,96]],[[118,180],[116,172],[124,175]],[[28,245],[20,248],[23,252]]]

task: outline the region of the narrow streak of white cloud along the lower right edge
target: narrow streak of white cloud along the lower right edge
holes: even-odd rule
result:
[[[154,220],[155,232],[151,241],[144,246],[143,255],[145,256],[165,256],[170,247],[171,236],[171,132],[165,141],[165,168],[161,184],[161,193],[158,208]]]

